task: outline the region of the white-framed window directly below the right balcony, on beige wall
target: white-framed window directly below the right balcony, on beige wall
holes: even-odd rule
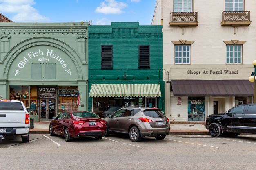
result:
[[[227,45],[227,64],[242,63],[242,45]]]

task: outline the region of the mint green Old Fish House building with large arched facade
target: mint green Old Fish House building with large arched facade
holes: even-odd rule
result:
[[[89,23],[0,23],[0,95],[49,120],[87,110]]]

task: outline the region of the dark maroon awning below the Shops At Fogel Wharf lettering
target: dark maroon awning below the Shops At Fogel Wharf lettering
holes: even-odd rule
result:
[[[253,96],[249,80],[172,80],[174,96]]]

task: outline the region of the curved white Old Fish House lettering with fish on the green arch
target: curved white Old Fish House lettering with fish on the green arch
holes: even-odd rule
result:
[[[53,50],[47,49],[47,51],[43,52],[42,50],[38,49],[36,52],[29,52],[27,53],[27,56],[23,57],[22,60],[18,63],[18,69],[15,71],[15,76],[21,72],[21,70],[26,66],[26,64],[34,59],[37,58],[38,61],[44,63],[44,62],[50,62],[50,60],[54,59],[56,60],[56,63],[59,63],[62,68],[67,69],[67,64],[65,63],[64,59],[62,59],[60,56],[55,54]],[[67,69],[65,70],[67,74],[71,75],[71,70]]]

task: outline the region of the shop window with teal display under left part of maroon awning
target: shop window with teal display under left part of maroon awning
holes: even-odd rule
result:
[[[188,121],[205,121],[205,97],[188,98]]]

